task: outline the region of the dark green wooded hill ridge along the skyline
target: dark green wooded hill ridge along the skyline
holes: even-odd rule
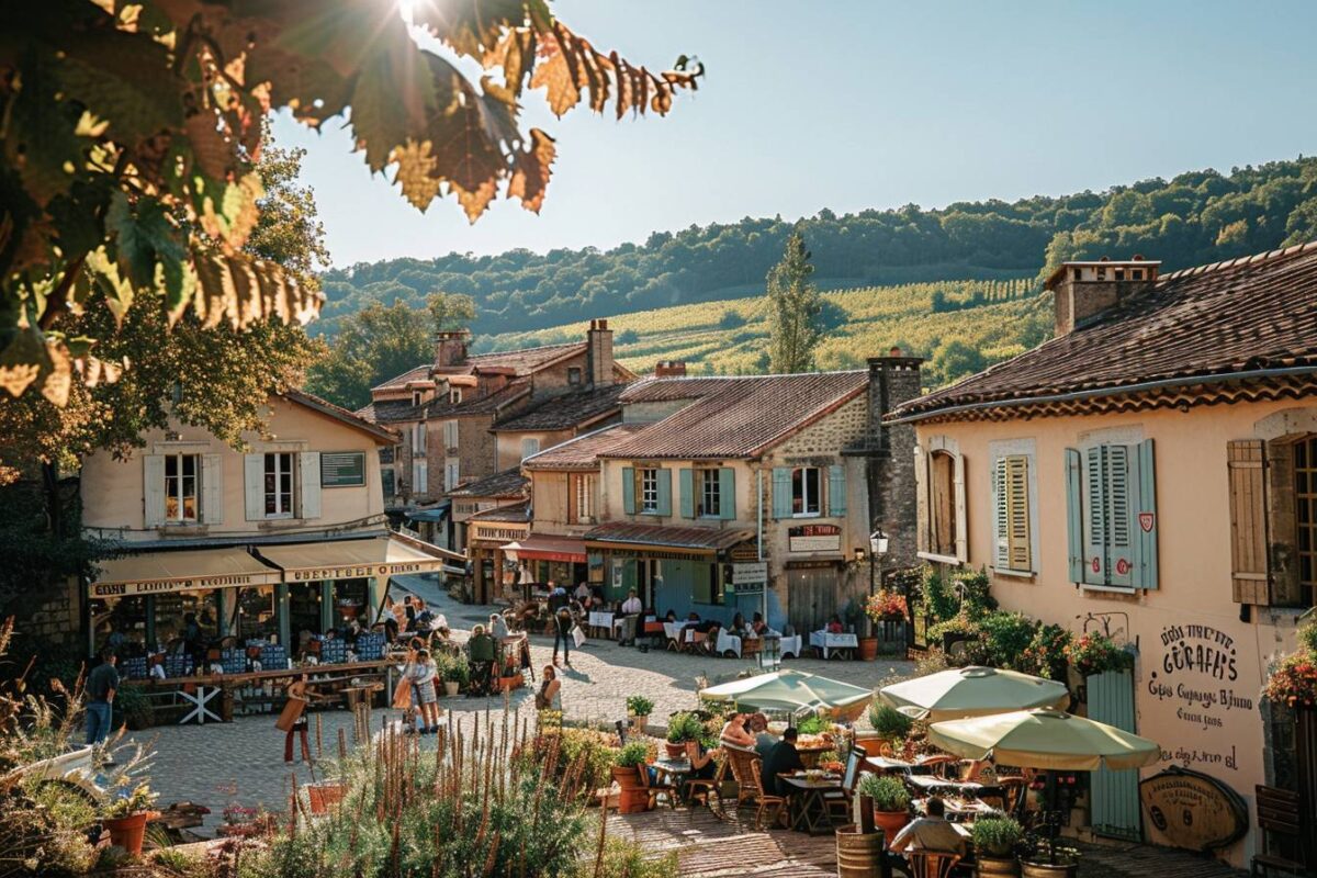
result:
[[[656,232],[607,251],[510,250],[360,263],[324,275],[328,303],[311,332],[332,336],[340,317],[370,301],[468,294],[477,338],[545,329],[589,317],[757,296],[781,258],[782,217]],[[1189,171],[1105,192],[988,200],[925,211],[820,211],[805,221],[822,288],[928,280],[1036,278],[1072,258],[1142,253],[1166,270],[1317,238],[1317,159]],[[956,295],[959,288],[948,288]],[[964,292],[964,291],[959,291]],[[925,295],[925,294],[921,294]],[[932,291],[926,294],[930,297]],[[620,324],[619,324],[620,325]],[[499,340],[502,342],[502,340]]]

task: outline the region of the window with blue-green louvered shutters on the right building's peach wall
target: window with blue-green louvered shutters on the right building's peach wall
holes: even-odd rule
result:
[[[1152,440],[1067,449],[1071,579],[1156,588]]]

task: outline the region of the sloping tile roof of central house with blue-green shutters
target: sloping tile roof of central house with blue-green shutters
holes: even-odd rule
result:
[[[669,382],[676,387],[653,387]],[[658,378],[644,391],[645,399],[685,399],[687,396],[680,394],[689,395],[691,382],[698,382],[697,390],[702,394],[695,401],[599,457],[756,457],[863,394],[869,384],[869,374],[859,370],[747,378]]]

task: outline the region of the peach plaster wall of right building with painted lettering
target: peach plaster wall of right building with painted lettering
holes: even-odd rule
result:
[[[1305,408],[1288,403],[1197,407],[1188,412],[1043,417],[1031,421],[919,425],[921,445],[932,437],[955,438],[965,461],[968,566],[992,573],[992,490],[989,442],[1031,438],[1036,442],[1039,557],[1036,575],[1022,579],[993,575],[993,595],[1006,609],[1047,623],[1083,629],[1088,613],[1114,613],[1112,625],[1138,644],[1135,706],[1138,732],[1162,744],[1164,761],[1144,769],[1155,774],[1171,765],[1205,771],[1252,802],[1254,785],[1266,783],[1259,691],[1271,659],[1293,649],[1295,611],[1254,608],[1239,621],[1231,600],[1230,515],[1226,442],[1262,438],[1256,423],[1280,411]],[[1306,408],[1317,408],[1317,403]],[[1064,450],[1080,434],[1126,428],[1155,441],[1159,588],[1133,595],[1077,588],[1069,581],[1064,483]],[[1205,625],[1229,638],[1237,679],[1164,666],[1167,648],[1179,642],[1172,627]],[[1191,645],[1197,641],[1191,640]],[[1168,691],[1167,691],[1168,690]],[[1188,692],[1222,694],[1247,707],[1204,708]],[[1220,727],[1212,725],[1221,723]],[[1220,761],[1218,761],[1220,760]],[[1234,845],[1229,858],[1243,865],[1252,836]]]

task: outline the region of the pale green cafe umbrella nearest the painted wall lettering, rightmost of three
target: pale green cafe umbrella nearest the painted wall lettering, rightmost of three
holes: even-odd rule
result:
[[[1138,769],[1162,758],[1156,741],[1051,708],[934,723],[928,741],[968,760],[1052,771]]]

